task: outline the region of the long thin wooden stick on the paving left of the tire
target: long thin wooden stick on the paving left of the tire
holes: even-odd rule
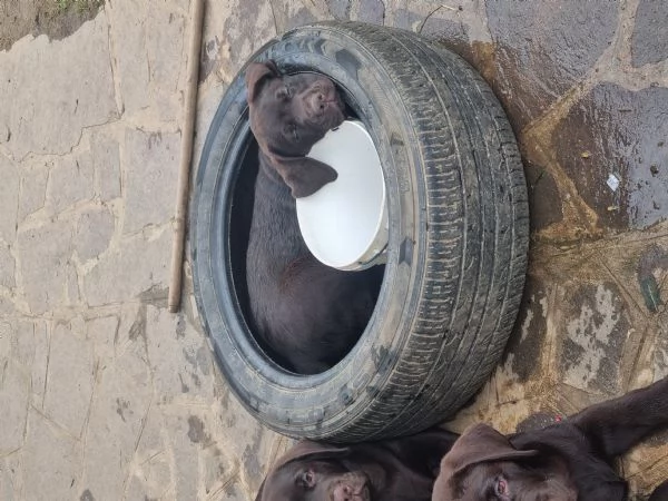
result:
[[[188,189],[190,184],[190,161],[193,158],[193,130],[197,116],[197,86],[199,85],[199,51],[202,47],[202,23],[204,0],[190,0],[190,50],[186,66],[187,80],[184,100],[181,128],[181,155],[176,194],[176,216],[171,246],[171,279],[167,307],[176,313],[180,306],[186,216],[188,213]]]

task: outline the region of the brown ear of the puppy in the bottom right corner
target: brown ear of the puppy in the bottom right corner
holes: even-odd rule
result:
[[[490,461],[513,461],[530,458],[538,451],[518,451],[505,436],[487,424],[470,426],[441,461],[441,475],[446,479],[466,468]]]

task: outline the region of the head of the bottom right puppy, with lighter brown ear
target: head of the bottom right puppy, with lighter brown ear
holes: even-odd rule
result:
[[[566,466],[518,451],[484,424],[468,429],[441,461],[433,501],[577,501]]]

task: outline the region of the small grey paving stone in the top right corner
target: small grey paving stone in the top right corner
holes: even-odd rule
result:
[[[640,0],[631,39],[635,67],[668,58],[668,1]]]

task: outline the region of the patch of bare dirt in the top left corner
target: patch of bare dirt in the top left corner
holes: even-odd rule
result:
[[[92,19],[104,0],[0,0],[0,50],[32,33],[59,40]]]

